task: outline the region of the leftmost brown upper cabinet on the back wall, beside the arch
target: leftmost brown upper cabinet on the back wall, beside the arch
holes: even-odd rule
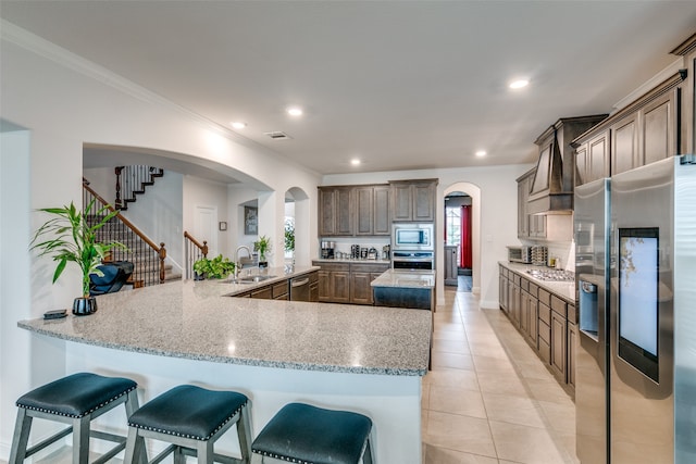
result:
[[[353,189],[319,187],[319,236],[353,235]]]

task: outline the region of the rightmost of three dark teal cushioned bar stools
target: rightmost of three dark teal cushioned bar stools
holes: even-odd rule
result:
[[[362,414],[286,404],[253,440],[253,462],[358,464],[362,457],[372,464],[371,430],[372,421]]]

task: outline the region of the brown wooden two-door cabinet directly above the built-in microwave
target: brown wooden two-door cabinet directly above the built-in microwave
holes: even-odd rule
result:
[[[391,220],[435,221],[437,179],[390,180]]]

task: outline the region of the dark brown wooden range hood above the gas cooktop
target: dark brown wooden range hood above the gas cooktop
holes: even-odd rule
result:
[[[531,180],[529,214],[570,214],[576,168],[575,147],[571,142],[606,117],[606,114],[563,117],[534,141],[539,147],[539,158]],[[594,160],[588,153],[583,153],[580,161],[582,165],[596,162],[599,159]]]

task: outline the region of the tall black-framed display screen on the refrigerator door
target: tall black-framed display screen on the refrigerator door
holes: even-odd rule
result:
[[[619,229],[619,356],[658,381],[659,229]]]

